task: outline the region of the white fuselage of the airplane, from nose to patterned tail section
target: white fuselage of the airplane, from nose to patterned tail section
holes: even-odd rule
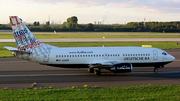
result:
[[[164,65],[175,58],[164,50],[149,47],[54,47],[46,55],[33,57],[41,64],[88,65],[116,61],[132,63],[134,66]]]

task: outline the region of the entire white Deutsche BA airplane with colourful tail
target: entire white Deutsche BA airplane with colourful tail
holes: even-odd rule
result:
[[[114,73],[131,72],[133,67],[158,68],[175,57],[152,47],[56,47],[40,42],[18,16],[10,16],[17,48],[4,46],[15,57],[43,65],[65,68],[87,68],[101,75],[102,69]]]

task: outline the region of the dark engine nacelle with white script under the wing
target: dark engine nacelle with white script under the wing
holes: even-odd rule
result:
[[[114,73],[126,73],[126,72],[131,72],[133,69],[132,64],[130,63],[121,63],[114,65],[113,67],[110,68],[110,71]]]

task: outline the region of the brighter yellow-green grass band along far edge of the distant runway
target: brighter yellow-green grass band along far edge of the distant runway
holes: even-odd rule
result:
[[[180,35],[121,35],[121,34],[35,34],[39,39],[57,38],[180,38]],[[0,34],[0,39],[13,39],[12,34]]]

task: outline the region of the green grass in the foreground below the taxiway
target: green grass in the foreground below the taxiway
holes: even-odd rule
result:
[[[179,101],[180,85],[0,90],[2,101]]]

